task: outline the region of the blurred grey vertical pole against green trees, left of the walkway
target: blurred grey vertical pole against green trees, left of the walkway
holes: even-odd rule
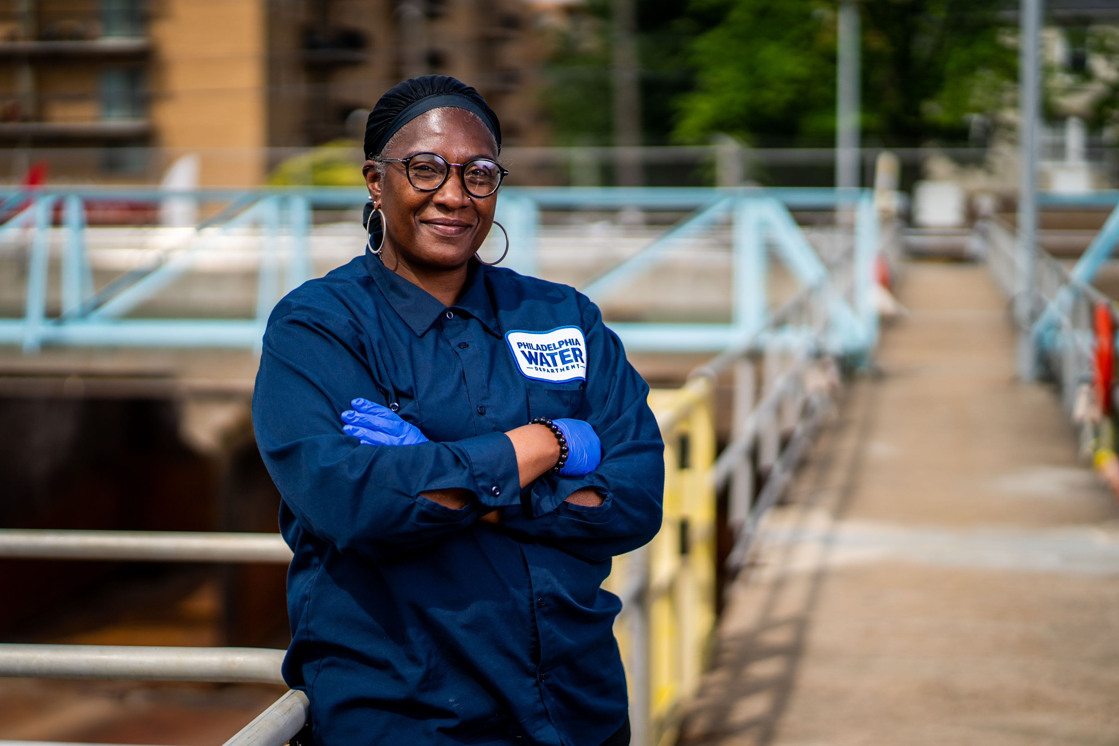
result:
[[[855,189],[859,183],[859,29],[858,4],[839,3],[838,60],[836,75],[836,188]]]

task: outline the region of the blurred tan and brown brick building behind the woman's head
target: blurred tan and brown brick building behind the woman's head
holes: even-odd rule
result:
[[[543,144],[542,12],[525,0],[0,0],[0,179],[48,153],[67,179],[151,180],[197,152],[203,185],[258,183],[425,73],[478,87],[509,144]]]

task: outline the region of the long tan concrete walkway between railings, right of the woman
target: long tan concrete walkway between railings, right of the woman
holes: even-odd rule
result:
[[[1119,744],[1119,508],[986,267],[906,267],[732,589],[681,744]]]

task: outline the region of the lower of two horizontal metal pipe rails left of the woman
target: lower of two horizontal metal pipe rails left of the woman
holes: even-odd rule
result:
[[[0,644],[0,677],[284,683],[266,648]]]

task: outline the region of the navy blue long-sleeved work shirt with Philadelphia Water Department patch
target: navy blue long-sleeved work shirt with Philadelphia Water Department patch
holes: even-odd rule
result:
[[[584,295],[473,261],[450,308],[368,252],[276,305],[253,424],[294,550],[283,674],[320,746],[599,746],[619,729],[621,604],[600,586],[660,528],[648,390]],[[339,419],[355,397],[432,442],[361,445]],[[533,417],[586,421],[602,463],[521,490],[505,432]],[[602,506],[564,501],[585,487]],[[420,495],[445,488],[473,499]],[[500,525],[477,520],[495,508]]]

